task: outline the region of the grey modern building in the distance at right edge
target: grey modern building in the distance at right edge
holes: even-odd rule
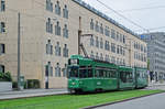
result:
[[[143,34],[142,39],[147,43],[151,79],[165,79],[165,33]]]

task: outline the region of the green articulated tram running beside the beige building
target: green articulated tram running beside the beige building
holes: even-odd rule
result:
[[[90,92],[125,90],[147,86],[147,69],[72,55],[68,59],[68,90]]]

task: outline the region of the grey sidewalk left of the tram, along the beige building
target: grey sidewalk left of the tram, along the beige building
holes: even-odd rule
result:
[[[67,89],[25,89],[0,92],[0,100],[67,94]]]

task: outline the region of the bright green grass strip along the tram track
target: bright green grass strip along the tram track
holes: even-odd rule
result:
[[[79,109],[114,102],[163,90],[127,90],[90,95],[56,95],[0,101],[0,109]]]

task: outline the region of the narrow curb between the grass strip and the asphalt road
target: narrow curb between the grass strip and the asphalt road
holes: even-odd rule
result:
[[[150,95],[144,95],[144,96],[140,96],[140,97],[133,97],[133,98],[129,98],[129,99],[124,99],[124,100],[120,100],[120,101],[113,101],[113,102],[108,102],[108,103],[102,103],[102,105],[97,105],[97,106],[90,106],[90,107],[80,108],[80,109],[94,109],[94,108],[110,106],[110,105],[124,102],[124,101],[129,101],[129,100],[133,100],[133,99],[138,99],[138,98],[148,97],[148,96],[153,96],[153,95],[157,95],[157,94],[165,94],[165,91],[156,92],[156,94],[150,94]]]

